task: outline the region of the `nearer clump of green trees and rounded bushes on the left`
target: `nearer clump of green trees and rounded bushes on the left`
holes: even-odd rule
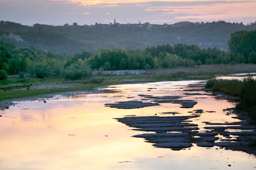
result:
[[[79,58],[76,62],[67,65],[51,52],[34,48],[19,48],[13,44],[0,42],[0,80],[8,75],[25,74],[45,77],[64,77],[70,80],[82,79],[91,75],[91,69],[86,61]],[[66,64],[66,65],[65,65]]]

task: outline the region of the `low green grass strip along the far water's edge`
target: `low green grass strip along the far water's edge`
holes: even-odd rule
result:
[[[0,81],[0,101],[77,90],[92,90],[104,85],[156,81],[206,80],[223,72],[175,72],[164,75],[93,76],[88,79],[67,81],[61,78],[8,78]]]

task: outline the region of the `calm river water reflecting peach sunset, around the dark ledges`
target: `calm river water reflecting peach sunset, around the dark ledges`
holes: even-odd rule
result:
[[[197,83],[202,81],[124,84],[105,88],[115,93],[57,95],[46,103],[18,102],[0,111],[0,169],[256,169],[253,155],[217,146],[193,144],[179,151],[153,147],[143,138],[132,137],[150,132],[132,130],[136,128],[113,119],[127,115],[186,116],[203,109],[199,117],[191,118],[200,132],[206,131],[203,122],[241,121],[223,111],[235,106],[226,99],[205,91],[184,95],[184,89],[191,89],[189,84]],[[104,106],[121,101],[147,102],[139,94],[180,95],[198,103],[193,108],[174,103],[137,109]]]

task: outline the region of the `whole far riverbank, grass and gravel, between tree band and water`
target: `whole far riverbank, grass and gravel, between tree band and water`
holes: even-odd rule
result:
[[[144,70],[145,71],[145,70]],[[179,81],[179,80],[207,80],[219,75],[234,74],[240,72],[254,72],[255,65],[201,65],[192,68],[178,67],[175,69],[155,69],[146,70],[150,72],[140,72],[135,75],[102,74],[95,72],[91,78],[67,81],[61,78],[8,78],[0,81],[0,108],[11,105],[12,101],[23,99],[39,99],[44,95],[53,96],[54,94],[66,93],[70,91],[88,91],[99,86],[143,83],[157,81]],[[114,71],[118,72],[118,71]],[[113,72],[112,72],[113,73]],[[120,71],[119,71],[120,73]]]

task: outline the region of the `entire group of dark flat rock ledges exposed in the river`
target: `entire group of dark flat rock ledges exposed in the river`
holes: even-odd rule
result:
[[[198,104],[196,101],[197,98],[194,98],[195,100],[183,98],[194,95],[213,95],[209,89],[204,88],[204,85],[204,83],[189,84],[186,86],[187,89],[183,89],[183,95],[154,96],[139,94],[139,96],[143,98],[141,100],[146,101],[145,103],[141,101],[127,101],[105,104],[105,106],[119,109],[133,109],[158,106],[164,103],[180,104],[180,108],[184,109],[193,108]],[[229,96],[222,94],[214,95],[229,100],[237,99],[229,98]],[[124,104],[129,105],[129,107]],[[133,115],[114,119],[131,127],[132,130],[146,132],[134,135],[133,137],[144,138],[145,142],[153,143],[153,146],[157,148],[182,150],[197,145],[198,147],[219,147],[220,149],[256,154],[256,148],[249,147],[250,143],[256,140],[256,126],[252,124],[249,114],[239,111],[236,108],[226,108],[223,109],[223,114],[237,119],[237,121],[211,123],[202,120],[200,125],[195,123],[195,119],[199,118],[202,114],[215,114],[215,112],[216,111],[212,110],[206,111],[197,109],[189,111],[188,113],[190,113],[190,115],[185,116],[176,116],[176,114],[181,114],[179,112],[169,112],[168,116],[156,116],[156,113],[154,116]],[[168,112],[165,114],[168,114]]]

